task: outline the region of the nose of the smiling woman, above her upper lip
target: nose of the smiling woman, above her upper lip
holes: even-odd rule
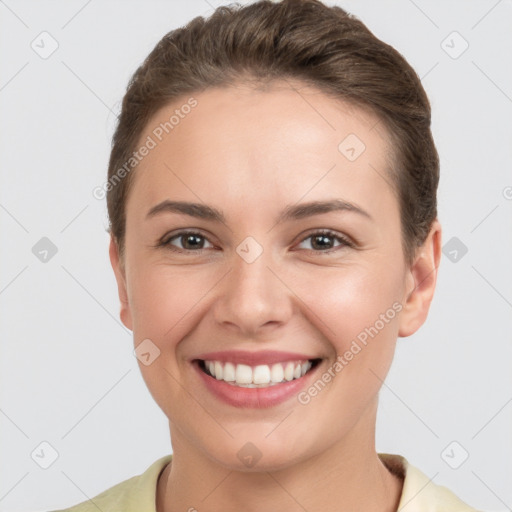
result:
[[[293,312],[293,293],[277,268],[270,251],[264,250],[252,263],[235,253],[214,305],[217,325],[257,339],[286,324]]]

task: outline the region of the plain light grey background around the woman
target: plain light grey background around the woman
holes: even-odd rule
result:
[[[70,506],[170,452],[119,320],[106,205],[92,190],[136,66],[166,32],[221,3],[0,2],[2,511]],[[405,455],[473,506],[510,510],[512,2],[337,4],[422,77],[443,244],[455,244],[428,321],[398,342],[377,449]],[[52,38],[59,46],[42,58]],[[43,237],[57,248],[46,262],[32,250]]]

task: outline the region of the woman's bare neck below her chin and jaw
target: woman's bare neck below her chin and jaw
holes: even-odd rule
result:
[[[277,471],[217,464],[171,428],[173,459],[160,475],[157,512],[396,512],[402,481],[375,451],[376,403],[334,446]]]

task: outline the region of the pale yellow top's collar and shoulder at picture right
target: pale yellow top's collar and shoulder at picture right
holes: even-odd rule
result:
[[[387,468],[403,478],[400,512],[480,512],[438,485],[401,455],[379,453]]]

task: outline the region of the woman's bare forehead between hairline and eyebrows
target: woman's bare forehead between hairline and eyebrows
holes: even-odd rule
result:
[[[183,96],[153,116],[141,143],[148,137],[155,145],[130,194],[147,205],[170,191],[176,199],[254,198],[261,206],[263,197],[267,204],[306,193],[361,201],[390,188],[389,143],[377,116],[297,82]]]

